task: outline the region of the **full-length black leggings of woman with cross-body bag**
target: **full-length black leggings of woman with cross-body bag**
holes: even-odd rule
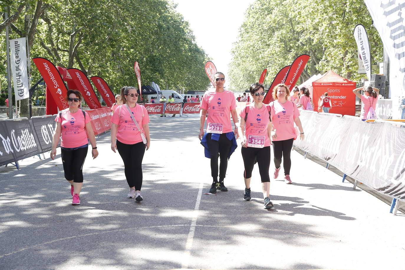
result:
[[[124,161],[125,177],[129,187],[141,190],[142,187],[142,159],[145,154],[145,144],[138,142],[127,145],[117,140],[117,150]]]

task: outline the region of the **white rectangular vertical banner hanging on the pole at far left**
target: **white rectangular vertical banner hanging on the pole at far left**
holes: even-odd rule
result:
[[[11,73],[13,74],[15,100],[30,97],[27,69],[27,38],[10,40]]]

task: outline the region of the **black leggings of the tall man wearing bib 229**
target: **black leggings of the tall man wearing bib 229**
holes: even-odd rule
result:
[[[211,176],[213,181],[218,180],[218,157],[220,157],[220,181],[225,179],[228,168],[228,155],[232,147],[232,141],[226,138],[226,134],[220,134],[219,140],[212,140],[211,133],[207,135],[207,145],[211,156]]]

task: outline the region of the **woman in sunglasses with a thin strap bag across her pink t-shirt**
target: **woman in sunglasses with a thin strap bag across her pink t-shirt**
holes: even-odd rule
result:
[[[136,104],[138,96],[135,87],[122,87],[123,105],[118,106],[111,117],[111,150],[114,153],[115,150],[118,150],[124,161],[125,177],[130,187],[127,198],[135,198],[137,202],[140,202],[143,200],[141,194],[142,160],[145,149],[149,149],[151,140],[149,116],[144,106]],[[146,143],[143,142],[143,136],[145,136]]]

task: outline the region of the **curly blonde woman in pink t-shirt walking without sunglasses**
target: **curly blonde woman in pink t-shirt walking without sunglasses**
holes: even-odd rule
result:
[[[274,153],[274,178],[279,174],[281,166],[281,157],[283,157],[284,179],[287,184],[291,184],[290,169],[291,169],[291,149],[292,142],[297,138],[294,123],[300,131],[300,139],[304,139],[303,127],[299,118],[297,105],[288,100],[290,91],[285,84],[278,84],[273,88],[274,101],[270,102],[271,108],[271,123],[273,131],[271,132],[271,140],[273,141]]]

